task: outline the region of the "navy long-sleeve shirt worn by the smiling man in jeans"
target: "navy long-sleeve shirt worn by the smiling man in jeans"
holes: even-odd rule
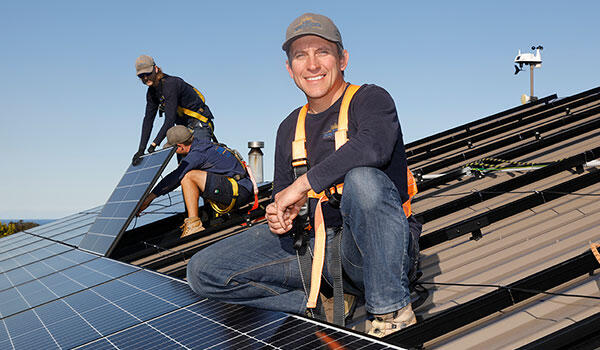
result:
[[[318,114],[307,114],[306,152],[308,181],[315,192],[343,182],[348,171],[356,167],[374,167],[394,182],[402,202],[408,200],[407,163],[402,131],[392,97],[379,86],[363,85],[354,95],[348,111],[348,142],[335,150],[335,132],[342,102]],[[275,152],[273,195],[294,182],[292,141],[300,108],[279,125]],[[311,217],[316,200],[311,200]],[[339,226],[339,210],[323,206],[328,227]]]

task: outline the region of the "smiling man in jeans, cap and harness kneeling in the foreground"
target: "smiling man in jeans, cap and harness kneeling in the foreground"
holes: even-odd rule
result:
[[[416,323],[408,278],[414,258],[409,175],[394,101],[379,86],[345,81],[349,55],[325,16],[295,19],[283,49],[290,77],[308,103],[277,131],[268,227],[255,226],[198,252],[188,264],[188,282],[202,296],[225,302],[298,314],[314,308],[313,284],[321,274],[308,293],[292,234],[308,201],[313,276],[324,245],[322,275],[333,285],[333,242],[343,227],[344,292],[363,298],[374,315],[369,333],[386,336]],[[319,238],[324,227],[326,237]]]

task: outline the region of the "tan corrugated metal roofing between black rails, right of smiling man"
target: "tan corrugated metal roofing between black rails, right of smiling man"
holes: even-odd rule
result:
[[[597,148],[600,146],[600,129],[597,126],[600,120],[600,96],[597,90],[575,98],[539,104],[525,112],[526,117],[516,118],[516,120],[527,121],[527,118],[536,119],[537,116],[543,116],[535,122],[497,134],[491,133],[489,137],[468,146],[455,141],[457,147],[448,148],[445,152],[431,149],[429,152],[434,153],[434,157],[419,159],[412,164],[409,158],[410,167],[419,176],[427,178],[426,175],[431,173],[456,172],[464,165],[478,160],[479,163],[495,163],[493,160],[485,159],[488,157],[513,162],[555,164],[564,158]],[[509,119],[519,114],[523,112],[511,113],[502,116],[501,119]],[[471,127],[471,130],[474,129]],[[490,133],[490,131],[486,132]],[[459,132],[454,134],[457,133]],[[523,137],[515,138],[515,135]],[[470,135],[463,136],[462,140],[464,143],[464,140],[476,137],[477,132],[471,132]],[[515,141],[505,143],[505,140],[510,138]],[[545,139],[551,138],[557,141],[544,142]],[[433,142],[430,141],[428,144]],[[481,151],[490,145],[497,146]],[[408,145],[409,154],[417,147],[423,145],[412,147]],[[440,147],[443,146],[438,146]],[[519,153],[519,148],[524,151]],[[517,156],[503,156],[507,154]],[[600,157],[600,152],[596,150],[596,153],[590,153],[589,156],[588,161],[592,161]],[[444,164],[446,159],[460,159],[460,161]],[[472,167],[485,168],[486,166],[472,165]],[[423,169],[430,169],[430,172]],[[541,196],[546,193],[549,201],[532,206],[523,204],[521,210],[518,210],[519,208],[514,210],[516,211],[514,215],[496,219],[497,221],[489,225],[483,223],[480,228],[481,238],[478,240],[471,239],[473,230],[467,230],[464,235],[422,250],[421,281],[430,290],[430,296],[416,309],[416,313],[427,320],[439,315],[441,311],[451,312],[458,305],[465,305],[498,289],[472,286],[473,284],[506,286],[577,257],[590,250],[590,243],[600,242],[600,202],[598,202],[600,176],[594,167],[578,170],[573,167],[532,183],[524,183],[518,188],[496,193],[493,198],[462,209],[458,207],[461,198],[473,193],[486,194],[486,189],[491,186],[502,186],[508,181],[518,182],[525,174],[540,170],[496,171],[485,174],[482,178],[464,173],[463,176],[456,176],[448,182],[421,191],[413,202],[413,211],[417,217],[427,210],[438,208],[453,200],[456,200],[457,206],[456,210],[449,209],[446,215],[439,215],[425,222],[422,240],[426,239],[428,234],[455,228],[461,222],[469,221],[470,218],[477,217],[480,221],[486,221],[502,206],[518,207],[519,200],[536,193]],[[566,191],[564,194],[559,194],[561,195],[559,198],[553,199],[551,193],[544,192],[553,186],[583,179],[585,176],[588,179],[578,185],[576,191]],[[427,180],[424,180],[422,183],[426,182]],[[594,268],[598,268],[598,265],[590,268],[590,272]],[[436,283],[471,286],[436,285]],[[583,275],[553,288],[552,292],[593,296],[597,299],[537,294],[526,301],[502,308],[487,317],[457,327],[456,330],[432,337],[425,343],[425,347],[513,349],[524,346],[600,313],[599,286],[600,277],[597,274]],[[419,324],[415,327],[419,327]],[[402,341],[399,343],[402,344]]]

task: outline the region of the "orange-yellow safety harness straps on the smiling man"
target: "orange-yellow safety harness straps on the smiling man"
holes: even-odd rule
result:
[[[338,128],[335,132],[335,149],[336,151],[342,147],[348,141],[348,110],[350,107],[350,101],[352,97],[358,91],[360,86],[348,85],[344,97],[342,98],[342,104],[340,106],[340,113],[338,115]],[[296,134],[294,141],[292,141],[292,167],[294,168],[294,174],[298,176],[299,173],[306,173],[308,170],[308,158],[306,152],[306,132],[305,132],[305,120],[308,112],[308,104],[304,105],[298,114],[298,120],[296,122]],[[298,170],[302,169],[302,170]],[[407,185],[409,200],[403,205],[404,214],[409,217],[412,214],[410,199],[417,193],[417,184],[415,179],[407,169]],[[311,283],[310,293],[308,296],[308,302],[306,306],[308,308],[315,308],[317,306],[317,298],[319,296],[319,290],[321,287],[321,274],[323,272],[323,263],[325,260],[325,223],[323,219],[323,209],[321,204],[331,197],[331,195],[341,195],[344,188],[344,184],[338,184],[328,188],[320,193],[315,193],[313,190],[308,192],[309,198],[318,199],[317,207],[315,209],[315,246],[313,253],[313,262],[311,270]]]

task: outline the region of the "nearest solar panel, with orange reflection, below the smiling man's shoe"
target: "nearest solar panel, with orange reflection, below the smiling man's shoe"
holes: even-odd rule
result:
[[[297,316],[203,300],[82,349],[399,349]]]

